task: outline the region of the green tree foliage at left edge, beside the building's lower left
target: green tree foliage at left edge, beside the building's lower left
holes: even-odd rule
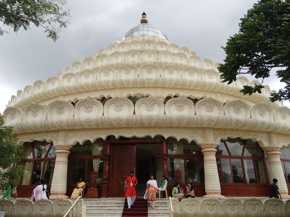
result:
[[[14,162],[19,162],[17,156],[22,153],[22,146],[16,146],[18,135],[12,134],[13,127],[4,126],[4,117],[0,114],[0,190],[5,191],[9,185],[17,186],[19,178],[24,173],[22,167],[9,169]]]

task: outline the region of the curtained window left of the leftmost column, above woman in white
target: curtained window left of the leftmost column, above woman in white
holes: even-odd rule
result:
[[[55,162],[55,148],[52,143],[46,141],[25,142],[24,151],[19,155],[21,162],[16,165],[24,166],[24,174],[20,185],[39,185],[41,178],[45,184],[51,184]]]

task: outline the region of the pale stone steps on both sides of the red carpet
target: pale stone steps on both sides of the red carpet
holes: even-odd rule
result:
[[[122,216],[125,203],[125,197],[123,198],[99,198],[99,199],[83,199],[83,206],[85,206],[86,217],[110,217],[110,216]],[[160,198],[156,199],[155,209],[151,206],[148,207],[148,217],[162,216],[169,217],[169,199]]]

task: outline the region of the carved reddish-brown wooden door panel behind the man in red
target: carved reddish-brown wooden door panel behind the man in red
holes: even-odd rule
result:
[[[113,145],[110,151],[109,197],[124,196],[124,182],[136,167],[136,145]]]

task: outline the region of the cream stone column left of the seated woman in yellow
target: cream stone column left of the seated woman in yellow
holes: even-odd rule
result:
[[[67,157],[69,156],[71,145],[54,145],[56,160],[53,177],[51,181],[50,199],[68,198],[66,196],[67,184]]]

